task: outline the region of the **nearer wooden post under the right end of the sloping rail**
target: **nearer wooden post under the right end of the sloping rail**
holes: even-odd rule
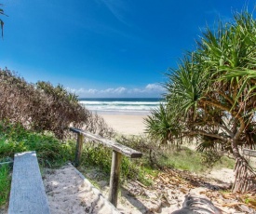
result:
[[[113,151],[110,175],[109,201],[116,207],[122,154]]]

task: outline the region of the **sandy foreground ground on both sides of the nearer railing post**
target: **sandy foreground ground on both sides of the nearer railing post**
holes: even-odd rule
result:
[[[219,174],[223,181],[225,178],[220,172],[216,171],[215,176]],[[99,173],[101,174],[99,171],[93,171],[90,172],[90,175],[87,174],[87,177],[95,180],[100,175]],[[104,183],[101,186],[101,194],[71,165],[60,169],[47,169],[43,178],[52,214],[168,214],[182,207],[186,194],[196,194],[206,198],[206,195],[202,193],[212,191],[209,190],[209,185],[184,190],[180,186],[181,183],[177,182],[170,186],[157,184],[155,189],[151,189],[141,186],[138,181],[129,181],[122,185],[118,196],[117,210],[102,196],[106,196],[108,193],[108,182],[97,181]],[[171,177],[168,178],[171,179]],[[229,178],[226,182],[229,182]],[[214,184],[214,186],[216,185]],[[224,213],[235,213],[236,211],[228,207],[221,208],[225,210]]]

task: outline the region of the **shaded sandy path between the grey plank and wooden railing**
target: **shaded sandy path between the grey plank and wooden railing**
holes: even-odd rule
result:
[[[119,213],[71,164],[46,169],[43,179],[51,214]]]

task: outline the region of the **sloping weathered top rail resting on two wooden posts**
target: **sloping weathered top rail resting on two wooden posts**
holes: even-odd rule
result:
[[[122,145],[122,144],[120,144],[118,142],[115,142],[113,140],[103,139],[100,136],[91,134],[91,133],[89,133],[87,131],[84,131],[82,129],[79,129],[79,128],[70,127],[70,130],[74,131],[77,134],[83,134],[85,137],[88,137],[89,139],[99,141],[104,146],[109,147],[109,148],[115,150],[116,152],[118,152],[120,154],[124,154],[124,155],[126,155],[128,157],[138,158],[138,157],[142,156],[141,152],[133,150],[133,149],[131,149],[131,148],[125,146],[125,145]]]

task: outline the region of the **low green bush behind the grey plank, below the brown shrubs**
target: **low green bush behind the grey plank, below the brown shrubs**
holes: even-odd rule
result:
[[[39,163],[45,167],[60,166],[74,159],[74,141],[63,143],[49,133],[29,131],[20,125],[1,125],[0,159],[25,151],[35,151]]]

